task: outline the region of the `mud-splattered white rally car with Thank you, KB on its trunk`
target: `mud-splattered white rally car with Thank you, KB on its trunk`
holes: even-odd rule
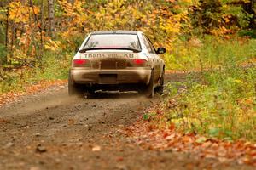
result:
[[[97,90],[138,91],[148,97],[162,93],[165,63],[141,31],[96,31],[85,38],[72,60],[68,93]]]

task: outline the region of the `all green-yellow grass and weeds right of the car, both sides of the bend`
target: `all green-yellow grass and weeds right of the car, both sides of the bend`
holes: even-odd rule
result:
[[[168,97],[161,105],[164,116],[153,111],[143,118],[159,127],[175,126],[182,133],[255,142],[255,39],[205,37],[200,42],[197,48],[184,49],[184,55],[176,49],[179,52],[167,66],[195,75],[188,74],[186,82],[167,84]]]

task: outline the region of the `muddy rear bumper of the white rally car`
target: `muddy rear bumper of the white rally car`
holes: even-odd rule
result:
[[[91,70],[72,69],[70,71],[73,82],[81,84],[125,84],[145,83],[148,84],[151,69],[136,68],[125,70]]]

